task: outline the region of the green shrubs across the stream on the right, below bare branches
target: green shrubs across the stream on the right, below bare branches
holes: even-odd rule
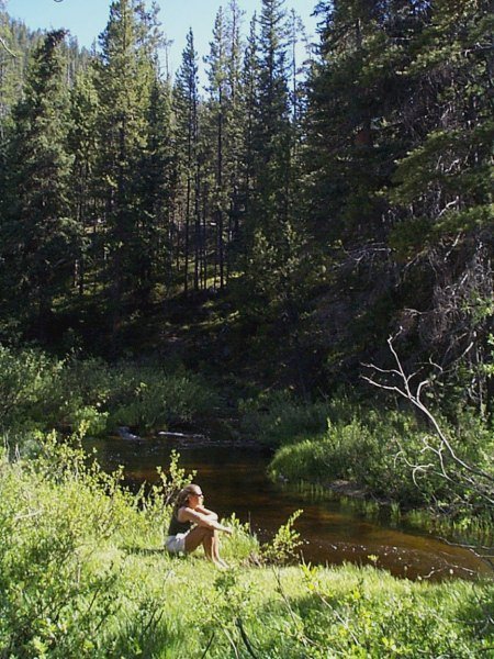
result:
[[[270,465],[273,479],[324,485],[350,481],[369,495],[404,507],[440,501],[442,510],[449,509],[453,516],[461,515],[461,505],[453,504],[457,498],[463,503],[470,500],[479,513],[484,509],[473,492],[462,493],[454,482],[427,467],[434,461],[431,450],[438,449],[437,438],[408,414],[335,400],[301,406],[299,415],[293,401],[281,398],[280,404],[280,396],[272,396],[271,403],[265,401],[261,410],[250,412],[250,417],[247,414],[247,427],[278,447]],[[441,424],[459,456],[492,471],[492,433],[481,418],[464,411],[457,415],[456,427],[446,420]],[[426,445],[430,448],[425,451]],[[414,471],[417,465],[422,467]]]

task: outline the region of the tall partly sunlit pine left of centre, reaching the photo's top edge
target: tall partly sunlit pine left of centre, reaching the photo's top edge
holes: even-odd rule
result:
[[[99,177],[104,204],[106,282],[112,334],[135,304],[145,237],[139,216],[139,165],[147,139],[147,112],[155,67],[147,38],[148,15],[137,0],[116,0],[101,35],[97,65],[100,119]],[[138,283],[138,279],[137,279]]]

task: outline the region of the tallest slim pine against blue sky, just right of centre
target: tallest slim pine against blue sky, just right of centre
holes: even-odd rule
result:
[[[246,216],[243,225],[244,286],[251,311],[278,315],[291,293],[301,246],[293,206],[293,131],[282,0],[265,0],[259,34],[250,37],[246,76]],[[303,241],[302,241],[303,242]],[[247,306],[246,306],[247,311]]]

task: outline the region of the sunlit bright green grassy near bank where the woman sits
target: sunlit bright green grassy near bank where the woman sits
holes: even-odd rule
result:
[[[38,436],[15,450],[11,437],[0,461],[0,657],[458,659],[494,648],[492,582],[276,565],[282,547],[259,547],[235,520],[229,570],[200,551],[168,556],[168,496],[188,478],[172,462],[135,495],[77,440]]]

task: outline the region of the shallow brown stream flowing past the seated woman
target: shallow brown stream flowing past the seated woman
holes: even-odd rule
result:
[[[180,453],[180,466],[197,471],[195,482],[205,493],[205,506],[222,516],[235,513],[240,522],[265,541],[297,509],[295,523],[304,544],[302,552],[313,563],[373,562],[396,577],[409,579],[474,578],[489,567],[462,547],[449,545],[427,533],[366,517],[348,500],[328,501],[272,483],[266,469],[268,458],[260,450],[232,445],[207,445],[154,439],[93,439],[104,469],[125,468],[130,484],[156,482],[156,467],[169,465],[172,448]],[[389,517],[389,515],[388,515]]]

